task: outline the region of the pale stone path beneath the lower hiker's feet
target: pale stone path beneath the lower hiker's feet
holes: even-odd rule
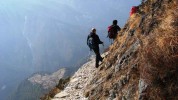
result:
[[[95,68],[95,56],[90,60],[74,74],[67,87],[52,100],[88,100],[84,97],[84,89],[98,70]]]

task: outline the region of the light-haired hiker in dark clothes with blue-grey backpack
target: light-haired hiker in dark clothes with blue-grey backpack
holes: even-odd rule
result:
[[[99,39],[99,36],[96,34],[96,29],[92,28],[90,34],[87,38],[87,45],[89,46],[90,50],[93,50],[96,55],[96,63],[95,67],[99,67],[99,61],[103,61],[103,58],[100,55],[99,44],[103,44],[103,42]]]

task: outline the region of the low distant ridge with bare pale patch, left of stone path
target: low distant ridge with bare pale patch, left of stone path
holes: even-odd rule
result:
[[[73,72],[74,73],[74,72]],[[39,100],[50,89],[54,88],[61,78],[72,74],[66,68],[59,69],[52,74],[36,73],[22,81],[18,87],[9,94],[7,100]]]

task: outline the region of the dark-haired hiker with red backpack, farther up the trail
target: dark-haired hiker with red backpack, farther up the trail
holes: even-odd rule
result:
[[[117,37],[118,32],[121,28],[117,25],[117,20],[113,20],[113,24],[108,27],[108,36],[109,39],[115,40]]]

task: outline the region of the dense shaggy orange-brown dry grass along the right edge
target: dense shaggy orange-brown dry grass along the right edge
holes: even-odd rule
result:
[[[143,40],[140,74],[151,86],[147,94],[151,95],[150,99],[177,100],[178,28],[175,27],[178,14],[174,12],[177,9],[174,2],[163,7],[169,10],[157,16],[161,20],[159,26],[150,34],[152,37]]]

